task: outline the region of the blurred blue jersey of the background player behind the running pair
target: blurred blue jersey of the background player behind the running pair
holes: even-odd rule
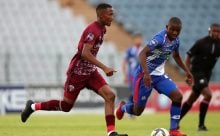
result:
[[[132,76],[135,68],[139,64],[138,60],[138,54],[140,53],[141,47],[136,47],[136,46],[131,46],[130,48],[127,49],[125,52],[125,60],[128,62],[128,76]]]

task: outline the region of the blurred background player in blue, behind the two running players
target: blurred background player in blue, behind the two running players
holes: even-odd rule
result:
[[[133,102],[133,81],[134,81],[134,71],[139,64],[138,55],[142,49],[141,45],[143,44],[143,37],[140,33],[136,33],[132,36],[133,43],[126,50],[125,57],[123,60],[123,74],[124,74],[124,82],[128,83],[130,96],[128,101]]]

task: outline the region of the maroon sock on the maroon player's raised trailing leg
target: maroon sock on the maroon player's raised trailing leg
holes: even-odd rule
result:
[[[47,111],[64,111],[69,112],[72,108],[72,104],[68,104],[65,101],[50,100],[47,102],[36,103],[36,110],[47,110]]]

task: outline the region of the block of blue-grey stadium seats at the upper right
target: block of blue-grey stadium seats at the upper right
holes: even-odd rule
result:
[[[97,5],[103,0],[88,0],[92,5]],[[183,29],[180,35],[180,52],[185,56],[186,51],[195,40],[208,34],[208,27],[213,22],[220,22],[220,2],[211,1],[175,1],[169,0],[108,0],[116,10],[116,20],[128,32],[141,32],[146,40],[165,28],[171,16],[182,19]],[[173,63],[173,61],[170,61]],[[173,63],[175,64],[175,63]],[[219,67],[218,63],[216,67]],[[220,76],[214,81],[220,81]]]

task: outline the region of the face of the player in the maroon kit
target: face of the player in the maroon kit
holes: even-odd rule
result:
[[[104,25],[110,26],[113,21],[114,11],[112,8],[107,8],[102,12],[102,15],[100,17],[101,22]]]

